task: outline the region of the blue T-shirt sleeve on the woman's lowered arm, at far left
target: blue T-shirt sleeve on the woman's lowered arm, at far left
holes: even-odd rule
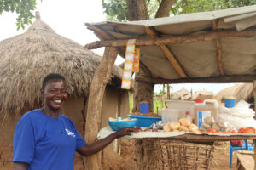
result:
[[[28,122],[18,122],[15,127],[13,161],[31,164],[34,156],[34,145],[32,125]]]

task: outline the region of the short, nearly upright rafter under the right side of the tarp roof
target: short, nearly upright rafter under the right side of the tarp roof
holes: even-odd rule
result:
[[[212,20],[212,30],[213,31],[217,31],[217,20]],[[223,65],[222,65],[222,49],[221,49],[221,46],[220,46],[220,41],[217,39],[217,40],[214,40],[215,42],[215,45],[216,45],[216,51],[217,51],[217,62],[218,62],[218,70],[220,72],[220,75],[224,76],[224,70],[223,70]]]

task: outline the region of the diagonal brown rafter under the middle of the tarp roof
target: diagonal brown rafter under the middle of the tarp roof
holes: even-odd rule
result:
[[[157,32],[154,29],[149,28],[148,26],[144,26],[144,28],[148,35],[153,38],[158,38]],[[166,54],[166,58],[169,59],[173,69],[177,71],[177,74],[180,77],[187,78],[188,76],[186,75],[185,71],[183,71],[182,66],[178,63],[177,59],[172,54],[171,50],[166,46],[166,44],[161,44],[159,47],[162,49],[164,54]]]

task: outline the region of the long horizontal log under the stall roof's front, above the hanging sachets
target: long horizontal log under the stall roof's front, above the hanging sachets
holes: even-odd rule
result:
[[[157,39],[140,39],[137,37],[137,46],[160,46],[160,44],[181,44],[199,41],[211,41],[224,37],[252,37],[256,35],[256,29],[248,29],[246,31],[208,31],[201,34],[190,34],[183,36],[160,37]],[[88,43],[84,46],[87,49],[96,49],[101,47],[125,47],[128,39],[112,40],[112,41],[96,41]]]

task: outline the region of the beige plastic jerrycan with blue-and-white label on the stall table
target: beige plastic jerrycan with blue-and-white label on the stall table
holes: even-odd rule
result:
[[[205,99],[203,103],[194,105],[194,120],[198,127],[207,116],[212,116],[218,122],[218,101],[216,99]]]

